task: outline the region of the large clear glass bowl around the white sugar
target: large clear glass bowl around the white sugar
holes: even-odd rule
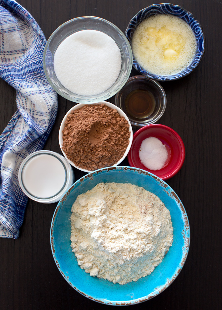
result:
[[[66,89],[58,80],[53,67],[54,53],[59,44],[69,35],[86,29],[101,31],[114,39],[122,58],[121,70],[115,83],[104,92],[94,96],[80,96]],[[113,23],[92,16],[73,18],[59,26],[48,39],[43,53],[44,72],[53,89],[64,98],[77,103],[97,103],[114,96],[128,80],[132,64],[132,50],[124,33]]]

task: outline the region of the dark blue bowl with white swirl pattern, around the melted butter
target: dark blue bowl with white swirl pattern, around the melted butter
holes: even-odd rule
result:
[[[173,75],[156,75],[146,71],[133,57],[133,66],[134,68],[139,71],[141,74],[155,80],[159,81],[171,81],[171,80],[178,80],[189,73],[191,73],[200,63],[201,58],[204,54],[204,42],[205,37],[203,34],[203,30],[201,28],[200,23],[194,18],[194,16],[189,13],[184,8],[181,8],[179,5],[174,5],[170,3],[160,3],[160,4],[153,4],[150,5],[148,8],[144,8],[143,10],[139,11],[134,18],[131,19],[129,25],[126,29],[125,35],[131,44],[131,40],[134,34],[136,27],[141,23],[144,19],[156,15],[156,14],[170,14],[182,18],[190,28],[193,30],[194,35],[197,41],[197,49],[196,54],[191,62],[191,64],[184,70],[180,71],[179,73],[175,73]]]

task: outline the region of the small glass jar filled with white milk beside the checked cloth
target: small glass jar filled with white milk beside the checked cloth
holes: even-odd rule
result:
[[[73,184],[73,169],[66,158],[48,150],[28,155],[20,165],[18,181],[32,200],[50,204],[59,201]]]

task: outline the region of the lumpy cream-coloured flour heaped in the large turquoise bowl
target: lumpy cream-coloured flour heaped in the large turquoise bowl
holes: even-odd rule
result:
[[[90,276],[125,284],[149,275],[173,242],[169,210],[154,194],[99,183],[72,206],[71,247]]]

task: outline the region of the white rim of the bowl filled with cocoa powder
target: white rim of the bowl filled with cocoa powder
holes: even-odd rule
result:
[[[64,157],[68,160],[68,162],[69,162],[74,168],[77,168],[78,170],[81,170],[81,171],[87,172],[87,173],[92,173],[94,170],[93,170],[93,171],[90,171],[90,170],[87,170],[87,169],[80,168],[80,167],[76,166],[70,159],[67,158],[65,152],[64,152],[63,149],[62,149],[62,145],[63,145],[63,133],[62,133],[62,131],[63,131],[64,125],[65,125],[65,121],[66,121],[66,119],[67,119],[67,116],[68,116],[72,111],[78,110],[78,109],[80,109],[81,107],[86,106],[86,105],[87,105],[87,106],[90,106],[90,105],[92,106],[92,105],[98,105],[98,104],[104,104],[104,105],[110,107],[110,108],[113,109],[113,110],[116,109],[117,112],[119,113],[119,115],[120,115],[120,116],[124,116],[124,118],[125,118],[125,119],[128,121],[128,123],[129,123],[129,132],[130,132],[129,144],[128,144],[127,148],[126,148],[126,151],[124,152],[123,157],[120,158],[119,161],[113,165],[114,167],[117,166],[117,165],[119,165],[119,164],[127,157],[127,154],[128,154],[128,152],[129,152],[130,147],[131,147],[132,142],[133,142],[133,129],[132,129],[131,123],[130,123],[130,121],[129,121],[129,118],[128,118],[127,115],[124,113],[124,111],[122,111],[118,106],[115,106],[113,103],[108,102],[108,101],[100,101],[100,102],[97,102],[97,103],[89,103],[89,104],[86,104],[86,103],[79,103],[79,104],[73,106],[73,107],[66,113],[66,115],[63,117],[63,120],[62,120],[61,125],[60,125],[60,127],[59,127],[59,132],[58,132],[59,147],[60,147],[60,149],[61,149],[61,151],[62,151]]]

